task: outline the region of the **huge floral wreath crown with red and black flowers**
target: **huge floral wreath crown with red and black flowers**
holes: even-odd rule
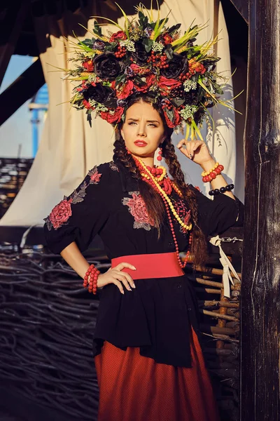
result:
[[[158,19],[153,21],[152,6],[148,11],[139,4],[134,18],[127,18],[118,6],[125,17],[124,27],[102,18],[116,25],[118,32],[104,35],[102,24],[94,21],[92,39],[74,43],[76,55],[70,60],[78,65],[66,74],[81,83],[73,89],[70,103],[76,109],[87,109],[90,126],[95,112],[117,127],[125,120],[130,98],[144,93],[160,106],[169,128],[183,132],[186,123],[186,138],[190,134],[192,139],[196,135],[202,139],[199,127],[204,119],[210,123],[208,108],[219,103],[233,109],[226,103],[230,100],[219,97],[223,86],[217,79],[225,78],[215,72],[220,58],[209,52],[218,36],[196,45],[195,37],[207,25],[190,26],[181,35],[180,23],[167,27],[168,15],[160,19],[159,6]]]

